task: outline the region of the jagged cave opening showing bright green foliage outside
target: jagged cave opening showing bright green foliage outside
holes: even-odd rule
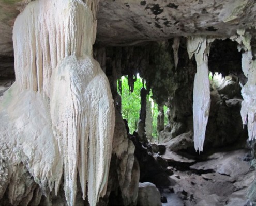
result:
[[[121,80],[118,80],[118,92],[121,94],[121,113],[129,126],[129,133],[138,132],[138,123],[140,120],[141,110],[141,95],[140,91],[145,87],[145,80],[136,75],[136,81],[134,81],[133,92],[130,90],[127,76],[122,76]],[[163,126],[167,124],[167,107],[163,108],[154,102],[152,97],[152,91],[147,91],[146,95],[146,118],[145,118],[145,135],[149,142],[158,142],[158,133],[163,130]],[[162,110],[163,109],[163,110]],[[162,122],[163,121],[163,122]],[[160,122],[160,123],[159,123]],[[162,128],[159,128],[162,127]]]

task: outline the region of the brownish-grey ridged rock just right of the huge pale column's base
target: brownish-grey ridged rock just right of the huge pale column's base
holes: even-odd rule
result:
[[[140,167],[134,157],[134,150],[134,144],[127,138],[122,115],[116,111],[112,150],[112,159],[116,157],[116,162],[110,167],[108,188],[112,187],[112,190],[120,188],[124,205],[137,205]],[[115,173],[117,173],[117,177],[115,177]],[[107,196],[109,194],[110,190],[108,190]]]

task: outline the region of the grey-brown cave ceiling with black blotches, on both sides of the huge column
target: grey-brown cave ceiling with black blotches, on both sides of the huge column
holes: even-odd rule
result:
[[[12,56],[12,26],[29,0],[0,0],[0,57]],[[256,2],[250,0],[100,0],[97,43],[138,45],[176,36],[230,37],[254,32]]]

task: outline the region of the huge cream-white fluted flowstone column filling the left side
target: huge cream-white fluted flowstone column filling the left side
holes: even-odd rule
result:
[[[80,0],[29,3],[13,28],[16,82],[0,99],[9,184],[18,184],[11,177],[20,163],[45,195],[53,188],[57,194],[63,177],[68,205],[75,205],[78,172],[83,198],[96,205],[106,193],[112,153],[114,105],[92,57],[93,22]]]

